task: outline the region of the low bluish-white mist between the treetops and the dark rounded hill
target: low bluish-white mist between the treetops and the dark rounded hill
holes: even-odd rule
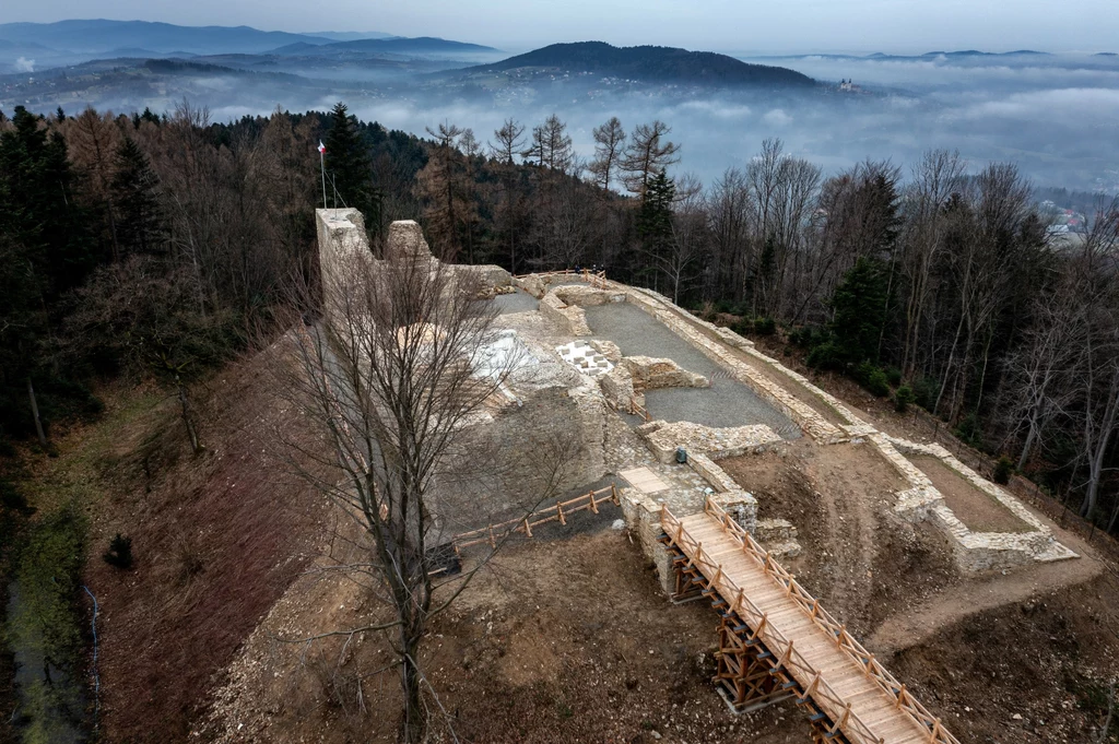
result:
[[[557,113],[580,156],[593,151],[591,130],[610,116],[627,129],[659,119],[683,147],[677,172],[705,182],[741,167],[761,141],[778,136],[787,152],[834,172],[856,162],[891,160],[908,168],[923,151],[959,150],[974,168],[1010,161],[1041,186],[1119,191],[1119,57],[991,55],[925,57],[782,57],[747,59],[790,67],[825,83],[809,93],[712,91],[629,85],[624,92],[561,78],[554,84],[483,88],[476,81],[417,74],[393,79],[378,68],[307,70],[305,77],[178,76],[162,87],[92,98],[56,96],[76,113],[85,103],[116,111],[173,106],[187,97],[214,119],[326,111],[339,100],[363,120],[420,135],[449,121],[485,142],[507,117],[532,126]],[[292,70],[285,70],[292,72]],[[293,79],[294,78],[294,82]],[[326,79],[330,78],[330,79]],[[840,90],[840,79],[854,81]],[[9,102],[10,103],[10,102]],[[9,112],[10,113],[10,112]]]

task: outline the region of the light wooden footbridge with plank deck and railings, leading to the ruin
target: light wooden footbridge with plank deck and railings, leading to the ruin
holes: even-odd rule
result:
[[[853,744],[959,744],[846,629],[717,505],[661,524],[727,609],[828,717],[830,736]]]

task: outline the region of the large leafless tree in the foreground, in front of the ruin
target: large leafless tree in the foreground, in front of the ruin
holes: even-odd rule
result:
[[[289,462],[365,536],[368,559],[344,568],[368,576],[389,609],[384,622],[302,640],[384,633],[403,694],[399,741],[408,744],[424,740],[427,701],[438,704],[421,663],[422,640],[432,618],[483,565],[436,576],[434,548],[444,544],[448,528],[479,516],[487,524],[485,514],[464,514],[471,503],[457,499],[458,489],[446,481],[458,482],[463,460],[479,456],[474,424],[483,420],[483,406],[508,402],[501,390],[516,365],[515,357],[492,352],[496,309],[478,299],[472,274],[431,260],[419,243],[417,226],[408,230],[396,223],[384,261],[359,241],[326,246],[321,321],[290,335],[295,374],[284,389],[330,453],[281,434]],[[518,506],[553,495],[570,462],[564,443],[534,444],[543,486]]]

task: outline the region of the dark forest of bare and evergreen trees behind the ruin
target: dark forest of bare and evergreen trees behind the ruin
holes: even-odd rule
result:
[[[1116,201],[1056,238],[1009,163],[935,151],[824,173],[769,140],[704,185],[669,135],[612,119],[584,161],[557,116],[417,138],[341,105],[232,123],[187,104],[17,110],[0,119],[0,435],[49,448],[121,375],[161,382],[189,427],[191,380],[313,277],[322,140],[328,205],[360,208],[374,246],[416,218],[445,260],[604,269],[925,407],[1116,528]]]

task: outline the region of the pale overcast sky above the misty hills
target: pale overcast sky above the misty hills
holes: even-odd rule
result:
[[[1117,0],[3,0],[0,22],[66,18],[384,31],[524,50],[598,39],[739,53],[1119,51]]]

